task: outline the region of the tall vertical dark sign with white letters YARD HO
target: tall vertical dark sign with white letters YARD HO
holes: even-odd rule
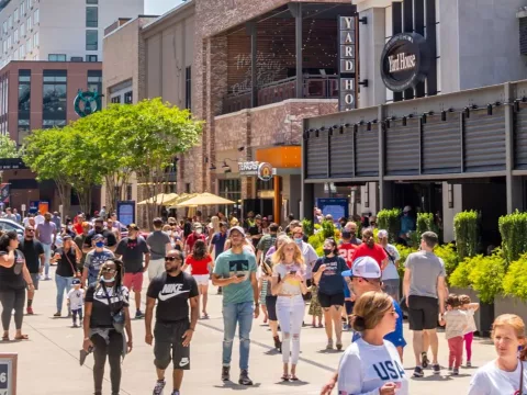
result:
[[[357,42],[356,18],[338,16],[339,87],[338,109],[357,109]]]

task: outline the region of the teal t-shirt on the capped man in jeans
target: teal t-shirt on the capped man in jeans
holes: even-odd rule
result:
[[[228,279],[236,274],[245,274],[245,281],[239,284],[229,284],[222,287],[223,304],[254,302],[250,273],[256,273],[256,257],[250,252],[233,253],[231,249],[216,258],[214,274],[221,279]]]

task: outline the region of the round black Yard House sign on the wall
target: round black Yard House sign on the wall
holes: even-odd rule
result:
[[[430,67],[426,40],[417,33],[395,34],[381,55],[381,77],[388,89],[402,92],[424,81]]]

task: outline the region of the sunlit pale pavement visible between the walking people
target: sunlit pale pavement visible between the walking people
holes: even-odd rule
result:
[[[54,268],[53,268],[54,270]],[[89,395],[92,394],[92,357],[88,357],[85,366],[79,366],[79,349],[82,343],[82,330],[71,328],[69,318],[53,318],[55,313],[56,289],[54,281],[41,282],[34,302],[34,316],[24,317],[24,332],[30,336],[29,341],[0,342],[0,352],[18,352],[18,395],[48,394],[48,395]],[[250,377],[255,381],[251,387],[238,384],[224,384],[220,380],[222,362],[223,321],[221,315],[222,296],[211,287],[208,320],[200,320],[191,345],[191,371],[186,373],[182,394],[198,395],[227,394],[231,391],[243,391],[247,395],[259,394],[319,394],[322,385],[337,368],[340,352],[327,352],[325,347],[324,329],[305,327],[301,334],[301,360],[298,375],[302,380],[296,383],[281,383],[281,356],[271,347],[271,335],[262,319],[255,321],[251,331],[251,349],[249,360]],[[143,301],[144,303],[144,301]],[[135,308],[132,302],[131,312]],[[306,316],[306,323],[311,317]],[[121,395],[152,394],[156,381],[153,364],[153,348],[144,341],[145,329],[143,320],[133,320],[134,350],[123,363],[123,379]],[[350,332],[344,334],[345,346],[350,342]],[[408,375],[412,374],[414,358],[412,356],[411,331],[405,323],[405,338],[408,346],[404,353],[404,366]],[[439,362],[446,365],[448,346],[445,335],[439,335]],[[485,361],[494,358],[494,349],[486,339],[475,339],[473,343],[474,366],[481,366]],[[238,342],[235,340],[232,363],[232,379],[236,383],[238,377]],[[425,371],[425,377],[411,380],[411,394],[466,394],[470,375],[475,368],[461,369],[458,377],[450,377],[442,370],[441,375],[433,375],[430,370]],[[170,377],[170,376],[168,376]],[[170,380],[170,379],[169,379]],[[165,394],[170,394],[167,383]],[[104,379],[104,394],[110,394],[108,374]],[[336,394],[336,391],[334,391]]]

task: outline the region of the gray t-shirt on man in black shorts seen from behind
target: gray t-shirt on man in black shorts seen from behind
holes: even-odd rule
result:
[[[406,258],[406,269],[412,270],[410,279],[411,296],[437,298],[437,278],[445,276],[445,266],[434,252],[417,251]]]

